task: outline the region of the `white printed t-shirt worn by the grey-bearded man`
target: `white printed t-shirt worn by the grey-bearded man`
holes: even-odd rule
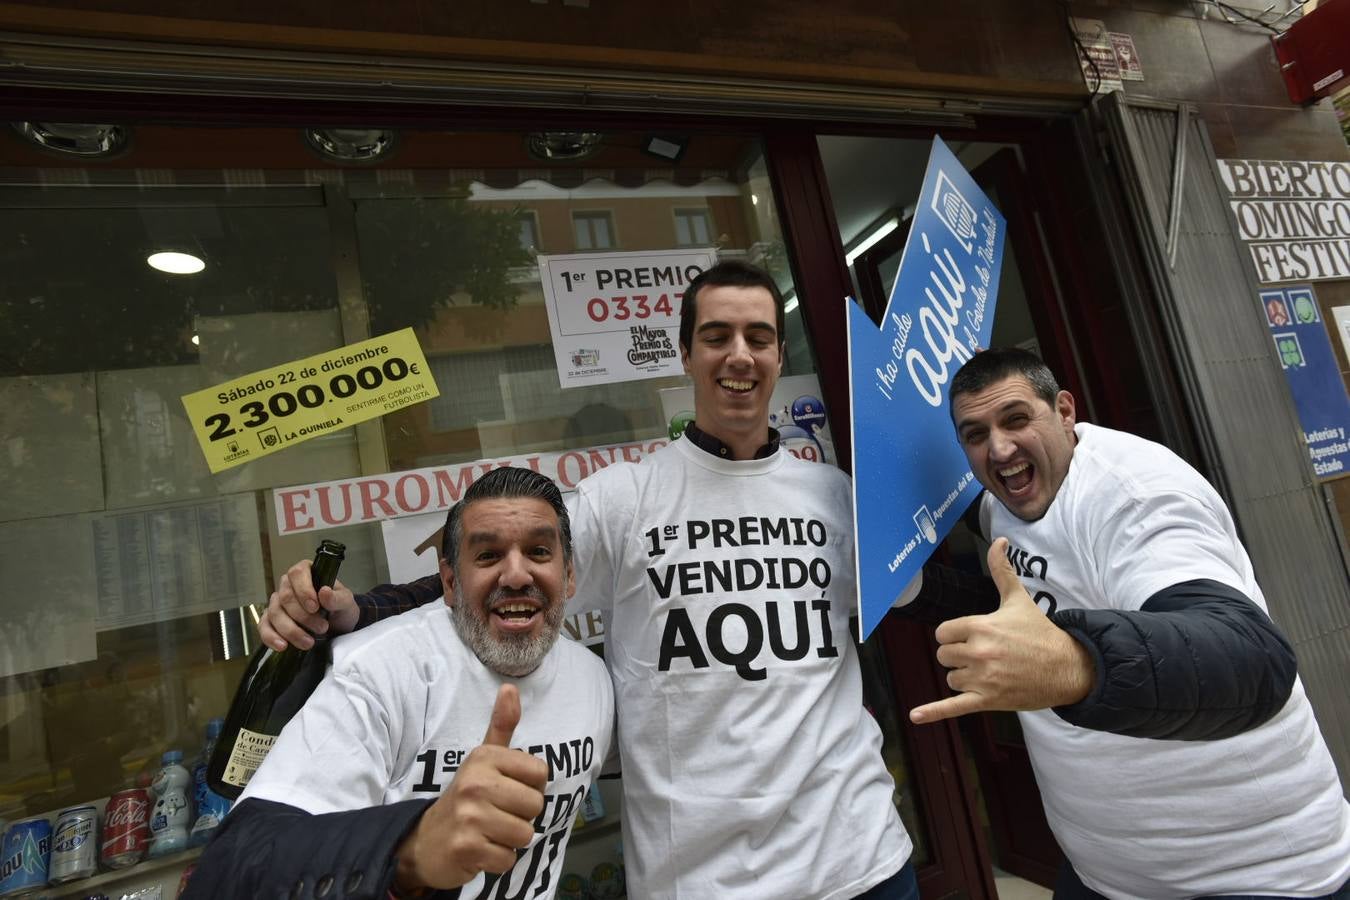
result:
[[[605,665],[572,641],[559,640],[537,669],[510,679],[464,646],[444,603],[344,636],[333,641],[332,669],[282,730],[240,800],[321,814],[436,797],[482,743],[497,690],[506,683],[517,685],[521,704],[512,746],[549,765],[544,812],[516,866],[502,876],[479,874],[460,897],[547,900],[613,733]],[[525,891],[526,884],[537,887]]]

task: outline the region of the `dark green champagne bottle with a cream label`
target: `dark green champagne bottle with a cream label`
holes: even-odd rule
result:
[[[319,544],[309,572],[316,591],[332,587],[338,580],[338,567],[346,551],[336,541]],[[207,784],[212,791],[228,800],[239,799],[281,729],[319,687],[331,656],[328,640],[321,634],[315,636],[315,645],[308,650],[298,646],[279,652],[267,645],[258,648],[235,690],[225,725],[211,754]]]

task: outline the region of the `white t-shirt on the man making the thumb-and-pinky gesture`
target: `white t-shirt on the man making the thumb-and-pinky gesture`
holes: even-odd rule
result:
[[[1045,610],[1138,610],[1211,579],[1265,609],[1227,506],[1160,444],[1079,424],[1044,518],[992,495],[986,534]],[[1083,882],[1108,897],[1276,893],[1315,897],[1350,877],[1350,806],[1303,683],[1265,725],[1222,741],[1130,738],[1022,712],[1045,812]]]

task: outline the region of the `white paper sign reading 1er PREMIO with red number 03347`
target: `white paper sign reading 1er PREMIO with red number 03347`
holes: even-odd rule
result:
[[[682,374],[680,300],[716,260],[710,248],[540,256],[558,383]]]

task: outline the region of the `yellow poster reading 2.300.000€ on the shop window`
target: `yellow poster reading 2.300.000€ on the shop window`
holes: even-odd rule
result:
[[[412,328],[186,394],[212,472],[439,397]]]

